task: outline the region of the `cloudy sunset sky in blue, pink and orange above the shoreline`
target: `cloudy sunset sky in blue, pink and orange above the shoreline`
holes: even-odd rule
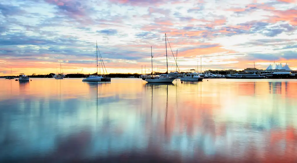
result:
[[[297,0],[0,0],[0,76],[297,69]],[[170,48],[171,47],[171,48]],[[200,60],[202,58],[202,62]],[[98,70],[99,71],[99,70]],[[102,71],[102,69],[101,69]]]

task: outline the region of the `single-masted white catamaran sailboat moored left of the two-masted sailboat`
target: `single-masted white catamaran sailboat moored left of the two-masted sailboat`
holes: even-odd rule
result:
[[[100,54],[100,51],[99,51],[99,58],[100,58],[100,62],[99,64],[102,65],[102,69],[103,69],[103,76],[98,76],[98,45],[97,45],[97,42],[96,42],[96,62],[97,62],[97,72],[96,74],[97,75],[90,75],[89,77],[87,78],[84,78],[83,81],[89,81],[89,82],[110,82],[111,79],[110,77],[105,77],[104,73],[106,72],[107,74],[107,71],[106,71],[106,68],[105,68],[105,65],[104,65],[104,62],[103,62],[103,59],[102,59],[102,56]],[[103,68],[104,67],[104,68]],[[104,72],[104,69],[105,69],[105,72]],[[100,68],[99,68],[100,70]]]

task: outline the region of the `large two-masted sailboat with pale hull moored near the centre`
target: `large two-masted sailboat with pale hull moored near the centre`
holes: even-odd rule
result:
[[[167,58],[167,41],[166,41],[166,33],[165,33],[165,48],[166,48],[166,65],[167,65],[167,76],[159,76],[153,75],[153,52],[151,47],[151,74],[146,77],[146,81],[149,83],[172,83],[177,77],[176,76],[168,76],[168,58]]]

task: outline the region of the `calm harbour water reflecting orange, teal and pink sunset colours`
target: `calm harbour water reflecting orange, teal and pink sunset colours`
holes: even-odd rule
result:
[[[0,79],[0,162],[297,162],[297,80]]]

